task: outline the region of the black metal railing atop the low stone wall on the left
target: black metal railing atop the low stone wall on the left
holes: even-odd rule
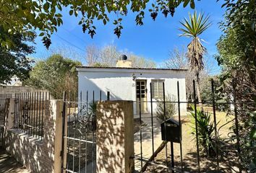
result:
[[[46,114],[46,101],[51,99],[50,93],[16,93],[14,98],[14,129],[42,140],[43,118]]]

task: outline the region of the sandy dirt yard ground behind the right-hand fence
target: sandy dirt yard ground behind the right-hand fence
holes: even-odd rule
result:
[[[212,113],[213,110],[211,107],[205,107],[206,112]],[[213,116],[212,116],[213,117]],[[178,119],[178,117],[174,117]],[[231,121],[234,117],[227,117],[225,112],[216,111],[217,119],[217,130],[220,138],[225,141],[228,138],[228,134],[231,132]],[[195,137],[192,136],[192,123],[191,117],[189,115],[184,115],[181,117],[182,120],[182,161],[183,161],[183,171],[186,172],[197,172],[197,148],[195,144]],[[212,119],[213,120],[213,119]],[[229,152],[225,153],[225,157],[220,159],[220,171],[221,172],[234,172],[238,170],[237,168],[237,157],[232,149],[234,149],[234,143],[229,143]],[[171,144],[167,143],[166,148],[156,156],[155,161],[158,164],[171,165]],[[167,156],[166,156],[167,153]],[[174,164],[176,169],[181,170],[181,153],[180,153],[180,144],[174,143]],[[216,158],[210,159],[206,158],[200,154],[200,172],[216,172],[217,160]],[[165,172],[165,169],[161,167],[148,167],[146,172]]]

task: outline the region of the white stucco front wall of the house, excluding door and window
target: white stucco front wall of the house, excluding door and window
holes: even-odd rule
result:
[[[78,71],[78,92],[82,92],[82,100],[85,101],[88,91],[88,99],[106,99],[107,92],[110,92],[111,100],[132,100],[134,101],[134,112],[136,112],[136,83],[132,80],[135,74],[136,79],[147,80],[147,98],[150,101],[150,82],[152,79],[165,80],[166,94],[172,94],[177,99],[177,81],[179,81],[180,101],[186,101],[185,75],[187,71],[155,70],[155,69],[134,69],[134,68],[77,68]],[[80,100],[80,99],[79,99]],[[154,101],[154,100],[153,100]],[[153,103],[153,112],[155,110]],[[181,104],[181,112],[187,112],[187,105]],[[148,113],[150,113],[150,102],[148,102]]]

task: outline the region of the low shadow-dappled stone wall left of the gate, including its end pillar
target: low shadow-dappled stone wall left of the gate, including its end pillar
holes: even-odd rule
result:
[[[61,172],[61,133],[62,133],[62,104],[61,100],[46,102],[46,116],[44,117],[43,140],[12,129],[11,99],[9,115],[4,132],[3,145],[6,150],[14,156],[33,173]]]

